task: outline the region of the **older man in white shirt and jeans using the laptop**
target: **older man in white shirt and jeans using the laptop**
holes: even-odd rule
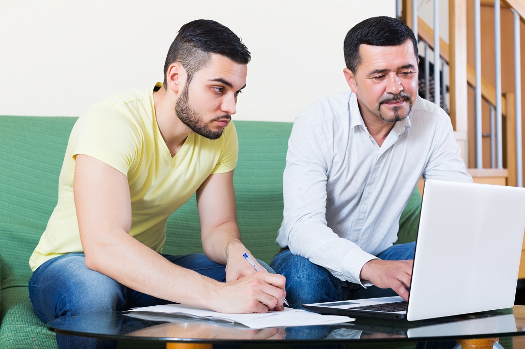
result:
[[[419,178],[472,181],[450,118],[417,96],[410,28],[366,19],[346,35],[344,58],[351,92],[306,108],[289,140],[283,250],[271,266],[286,276],[291,303],[406,300],[415,244],[393,244]]]

